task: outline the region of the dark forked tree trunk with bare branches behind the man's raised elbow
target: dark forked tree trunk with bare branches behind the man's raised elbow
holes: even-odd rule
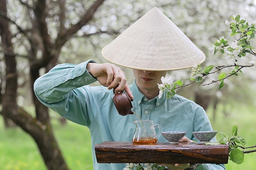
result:
[[[65,8],[65,1],[60,0],[58,2],[61,4],[61,8]],[[40,76],[39,70],[44,67],[48,71],[56,64],[58,55],[65,42],[93,18],[95,11],[103,2],[104,0],[94,1],[87,12],[81,17],[80,22],[72,25],[68,30],[65,27],[60,27],[58,37],[52,41],[48,34],[49,30],[46,23],[46,18],[48,17],[46,13],[46,0],[35,1],[33,7],[27,5],[26,2],[20,1],[27,8],[28,13],[31,10],[34,13],[34,16],[30,18],[32,26],[28,28],[29,32],[18,27],[20,33],[25,35],[25,38],[28,39],[31,45],[31,49],[27,53],[29,54],[30,64],[31,93],[36,108],[36,118],[33,118],[23,108],[18,107],[16,102],[18,76],[16,71],[16,56],[13,54],[11,33],[8,26],[8,21],[11,20],[7,17],[6,0],[0,0],[0,35],[2,37],[3,49],[7,51],[4,54],[4,60],[6,62],[6,87],[5,93],[3,94],[3,108],[0,114],[11,119],[16,125],[31,135],[36,141],[48,170],[68,170],[68,167],[54,138],[48,108],[36,98],[33,85],[35,80]],[[60,9],[60,12],[65,14],[65,9]],[[60,25],[63,25],[65,22],[65,15],[62,15],[62,17],[60,21],[62,24]],[[26,33],[29,34],[26,35]],[[55,42],[55,44],[52,42]],[[36,57],[38,50],[42,52],[40,59]]]

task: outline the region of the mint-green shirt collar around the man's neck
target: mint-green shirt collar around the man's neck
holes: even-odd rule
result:
[[[139,90],[135,80],[130,85],[130,88],[131,88],[132,95],[134,97],[135,102],[137,102],[138,105],[140,105],[142,103],[142,100],[144,98],[146,98],[146,96],[141,93],[141,91]],[[155,101],[155,106],[156,107],[160,106],[166,100],[166,92],[163,93],[163,95],[162,95],[162,97],[160,99],[157,96],[157,97],[155,97],[152,100]]]

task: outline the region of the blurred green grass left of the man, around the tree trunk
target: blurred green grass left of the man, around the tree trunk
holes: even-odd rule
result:
[[[5,130],[0,117],[0,169],[47,170],[34,140],[20,128]],[[90,131],[68,121],[53,121],[54,133],[70,170],[92,170]]]

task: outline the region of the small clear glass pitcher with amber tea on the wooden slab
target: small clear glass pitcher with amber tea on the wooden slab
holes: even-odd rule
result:
[[[157,138],[161,135],[162,127],[159,124],[153,124],[153,120],[137,120],[134,121],[136,125],[135,133],[132,138],[133,144],[156,144]],[[159,132],[156,135],[155,128]]]

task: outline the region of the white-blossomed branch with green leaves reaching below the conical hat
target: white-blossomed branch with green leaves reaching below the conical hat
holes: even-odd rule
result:
[[[173,79],[170,77],[162,77],[162,84],[158,84],[159,88],[159,98],[162,97],[162,94],[164,91],[166,91],[166,97],[170,98],[173,97],[176,93],[175,90],[177,88],[181,88],[184,86],[189,86],[190,84],[194,82],[202,82],[203,77],[217,73],[218,71],[222,70],[223,68],[228,67],[234,67],[230,72],[222,72],[218,75],[218,80],[213,80],[211,83],[203,84],[202,86],[206,86],[209,84],[213,84],[216,82],[220,82],[220,85],[218,89],[222,88],[224,86],[224,79],[227,79],[228,77],[231,77],[232,75],[238,76],[238,73],[242,73],[241,69],[244,67],[252,67],[256,68],[256,61],[252,60],[249,62],[249,65],[240,65],[238,64],[238,61],[241,57],[245,57],[247,54],[251,54],[256,56],[256,53],[252,51],[254,47],[252,47],[250,44],[250,40],[252,40],[255,37],[256,34],[256,28],[255,23],[253,22],[246,22],[246,20],[241,20],[240,15],[233,15],[231,16],[231,19],[233,22],[225,21],[225,24],[229,26],[229,29],[231,29],[231,36],[236,35],[236,40],[228,44],[228,41],[222,36],[219,40],[216,40],[213,47],[209,48],[209,50],[213,51],[213,54],[216,54],[218,51],[221,53],[226,53],[227,57],[225,59],[232,60],[234,64],[231,65],[224,65],[224,66],[214,66],[209,65],[205,68],[201,68],[200,64],[195,63],[192,66],[192,78],[190,79],[192,82],[189,84],[183,85],[182,80],[178,80],[173,83]],[[216,68],[215,71],[212,71],[213,68]],[[212,71],[212,72],[211,72]],[[197,75],[196,77],[194,77]]]

